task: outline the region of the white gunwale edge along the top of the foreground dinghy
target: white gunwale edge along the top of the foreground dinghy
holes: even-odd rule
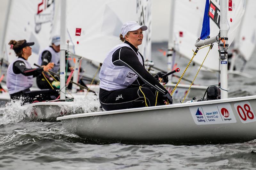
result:
[[[100,115],[117,114],[117,113],[140,112],[140,111],[148,111],[148,110],[188,107],[188,106],[205,105],[205,104],[227,103],[227,102],[253,100],[253,99],[256,99],[256,95],[245,96],[245,97],[233,97],[233,98],[218,99],[218,100],[208,100],[208,101],[201,101],[201,102],[178,103],[178,104],[161,105],[161,106],[151,106],[151,107],[140,107],[140,108],[132,108],[132,109],[104,111],[104,112],[79,113],[79,114],[71,114],[71,115],[65,115],[65,116],[57,117],[56,120],[65,120],[65,119],[90,117],[90,116],[100,116]]]

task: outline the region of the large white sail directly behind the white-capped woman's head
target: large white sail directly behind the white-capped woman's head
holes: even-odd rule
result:
[[[145,59],[151,59],[150,1],[67,1],[67,40],[78,56],[102,63],[119,40],[124,22],[147,25],[139,46]]]

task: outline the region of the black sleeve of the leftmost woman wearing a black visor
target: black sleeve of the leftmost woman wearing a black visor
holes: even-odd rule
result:
[[[23,61],[16,61],[13,63],[13,72],[15,74],[23,74],[25,76],[33,75],[33,77],[38,76],[40,73],[44,71],[43,67],[40,68],[27,68]]]

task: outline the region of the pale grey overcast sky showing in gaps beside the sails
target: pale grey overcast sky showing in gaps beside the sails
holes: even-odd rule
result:
[[[0,0],[0,39],[3,37],[4,21],[9,0]],[[152,0],[152,42],[168,40],[170,1]]]

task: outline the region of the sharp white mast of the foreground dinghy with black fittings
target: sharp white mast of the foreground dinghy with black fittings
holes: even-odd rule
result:
[[[222,39],[219,43],[220,49],[220,94],[221,99],[228,98],[228,1],[222,0],[220,1],[220,39]]]

